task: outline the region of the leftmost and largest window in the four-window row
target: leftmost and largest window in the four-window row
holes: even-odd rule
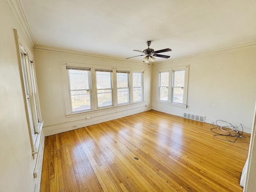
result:
[[[90,68],[67,67],[72,112],[91,110]]]

